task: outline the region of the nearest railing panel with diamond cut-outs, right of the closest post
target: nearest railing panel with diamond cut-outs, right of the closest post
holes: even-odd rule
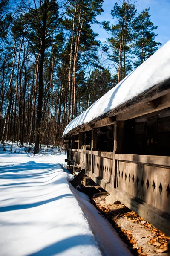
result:
[[[115,154],[117,188],[170,214],[170,157]]]

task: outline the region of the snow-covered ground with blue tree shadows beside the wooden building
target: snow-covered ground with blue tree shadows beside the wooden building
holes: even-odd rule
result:
[[[0,154],[0,256],[131,255],[70,185],[65,157]]]

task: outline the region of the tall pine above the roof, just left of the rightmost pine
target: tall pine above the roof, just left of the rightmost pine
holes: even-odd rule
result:
[[[122,6],[118,6],[118,3],[115,3],[111,11],[112,18],[116,20],[114,25],[110,26],[107,21],[103,22],[104,29],[112,35],[111,38],[107,39],[111,52],[109,57],[118,72],[118,83],[124,79],[132,69],[130,53],[131,43],[134,38],[132,22],[135,14],[135,5],[132,4],[130,0],[126,0],[123,1]],[[104,49],[108,50],[108,47]]]

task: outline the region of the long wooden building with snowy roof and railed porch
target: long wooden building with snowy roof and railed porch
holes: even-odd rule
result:
[[[63,135],[67,160],[109,192],[108,202],[122,202],[170,236],[170,41]]]

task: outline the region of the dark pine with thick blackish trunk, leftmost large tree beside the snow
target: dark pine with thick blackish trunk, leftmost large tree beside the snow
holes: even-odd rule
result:
[[[35,126],[35,148],[34,152],[39,152],[40,127],[43,111],[43,71],[45,51],[51,43],[51,34],[58,27],[59,12],[58,3],[55,0],[34,1],[34,7],[30,0],[26,5],[27,13],[24,15],[25,26],[28,26],[27,38],[31,41],[31,46],[35,52],[39,51],[38,67],[38,96],[37,96],[37,118]],[[29,25],[27,25],[29,24]]]

